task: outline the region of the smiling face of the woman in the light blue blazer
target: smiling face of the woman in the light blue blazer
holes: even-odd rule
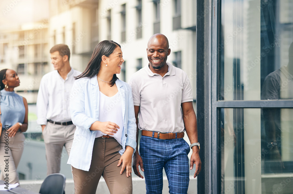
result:
[[[117,46],[107,59],[108,68],[113,71],[113,74],[119,74],[121,72],[121,65],[123,62],[122,50],[119,46]]]

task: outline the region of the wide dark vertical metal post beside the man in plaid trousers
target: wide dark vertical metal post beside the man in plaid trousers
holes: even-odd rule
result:
[[[212,0],[196,1],[197,4],[197,128],[198,141],[202,144],[200,158],[204,161],[197,176],[197,193],[212,194],[212,134],[211,134],[211,80],[212,80]],[[207,11],[208,10],[208,11]],[[201,115],[204,116],[201,116]]]

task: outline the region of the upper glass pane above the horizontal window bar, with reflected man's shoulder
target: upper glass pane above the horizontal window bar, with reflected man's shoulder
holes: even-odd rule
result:
[[[293,1],[222,1],[220,26],[219,100],[293,99]]]

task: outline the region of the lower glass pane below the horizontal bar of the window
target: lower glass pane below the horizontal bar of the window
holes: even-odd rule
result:
[[[293,109],[222,108],[221,193],[292,193]]]

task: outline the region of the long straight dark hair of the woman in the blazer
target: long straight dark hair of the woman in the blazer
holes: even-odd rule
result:
[[[106,57],[109,57],[110,54],[112,54],[117,48],[117,46],[121,48],[121,46],[113,40],[103,40],[99,44],[97,44],[96,48],[93,50],[91,59],[88,62],[88,66],[86,67],[84,72],[82,72],[81,75],[76,76],[75,79],[83,77],[92,78],[97,76],[101,68],[102,56],[105,55]],[[109,85],[113,86],[117,79],[118,77],[116,76],[116,74],[114,74]]]

